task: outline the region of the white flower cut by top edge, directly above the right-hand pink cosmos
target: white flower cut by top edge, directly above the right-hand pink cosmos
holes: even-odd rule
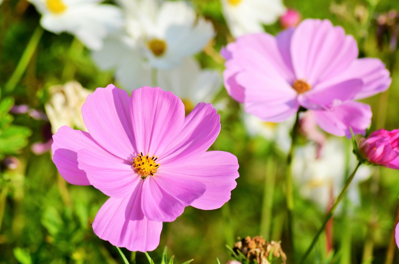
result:
[[[281,0],[221,0],[223,14],[234,37],[263,32],[262,24],[273,24],[286,8]]]

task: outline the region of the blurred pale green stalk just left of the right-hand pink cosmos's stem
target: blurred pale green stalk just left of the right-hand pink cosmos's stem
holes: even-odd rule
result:
[[[265,189],[263,192],[263,206],[261,216],[261,235],[270,240],[272,221],[273,195],[276,181],[276,164],[274,158],[269,158],[266,163]]]

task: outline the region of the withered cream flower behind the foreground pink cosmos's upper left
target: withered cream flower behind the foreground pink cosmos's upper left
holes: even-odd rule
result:
[[[51,124],[51,132],[55,134],[61,126],[75,127],[87,131],[83,122],[81,108],[86,97],[93,93],[76,81],[49,88],[50,99],[44,108]]]

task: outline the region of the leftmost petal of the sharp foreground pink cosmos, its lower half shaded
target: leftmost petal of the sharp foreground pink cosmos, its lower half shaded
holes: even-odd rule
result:
[[[90,185],[86,173],[78,167],[77,152],[82,148],[102,150],[101,147],[89,133],[67,126],[59,128],[53,140],[53,162],[65,181],[75,185]]]

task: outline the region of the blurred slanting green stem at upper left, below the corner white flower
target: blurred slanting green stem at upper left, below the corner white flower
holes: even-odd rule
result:
[[[6,93],[12,92],[16,87],[16,85],[18,84],[18,82],[20,81],[20,79],[22,78],[22,75],[24,75],[26,67],[28,66],[29,61],[32,58],[32,55],[34,54],[36,47],[39,44],[41,35],[43,35],[43,28],[41,28],[41,26],[38,26],[35,32],[32,34],[32,37],[30,38],[28,45],[26,45],[24,53],[22,53],[21,59],[18,62],[18,65],[14,70],[14,73],[12,73],[10,79],[8,80],[8,82],[4,87],[4,91]]]

